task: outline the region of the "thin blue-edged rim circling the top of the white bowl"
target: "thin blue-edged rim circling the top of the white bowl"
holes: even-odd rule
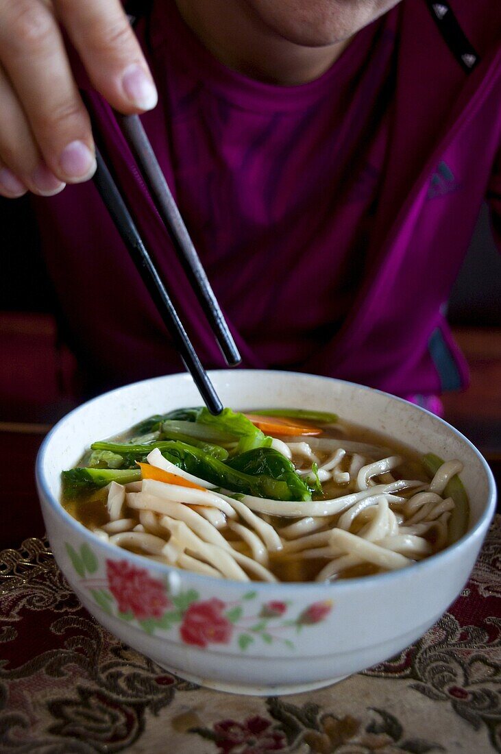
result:
[[[148,559],[147,556],[138,555],[136,553],[130,552],[130,550],[121,550],[121,548],[116,547],[113,544],[109,544],[107,541],[102,540],[97,535],[95,535],[90,529],[87,529],[86,526],[81,524],[78,520],[73,518],[73,516],[68,513],[67,510],[63,508],[63,505],[60,503],[59,500],[50,492],[49,489],[49,483],[47,481],[47,476],[45,474],[44,470],[44,459],[47,455],[47,449],[50,446],[50,443],[52,442],[52,439],[55,434],[60,430],[60,428],[65,424],[66,421],[69,421],[70,418],[73,418],[75,415],[78,415],[79,412],[84,411],[87,409],[87,406],[90,406],[92,403],[95,403],[98,400],[102,400],[104,397],[112,397],[114,394],[118,394],[121,391],[125,391],[127,389],[139,386],[139,385],[146,385],[153,382],[160,382],[163,380],[168,379],[179,379],[184,378],[185,380],[191,380],[191,376],[188,374],[188,372],[176,372],[174,374],[169,375],[160,375],[157,377],[151,377],[144,380],[139,380],[137,382],[130,382],[127,385],[121,385],[118,388],[114,388],[113,390],[106,391],[105,393],[99,394],[96,397],[91,398],[90,400],[85,401],[85,403],[81,403],[80,406],[77,406],[75,409],[72,409],[69,413],[64,415],[62,418],[60,418],[59,421],[57,421],[57,424],[53,426],[53,428],[50,429],[48,434],[44,437],[44,440],[41,443],[40,448],[38,449],[38,454],[35,461],[35,480],[38,488],[38,496],[40,498],[43,498],[44,501],[49,505],[49,507],[53,510],[54,513],[56,513],[57,517],[60,517],[63,520],[63,523],[69,524],[71,529],[75,530],[75,533],[78,533],[80,535],[84,535],[84,537],[89,538],[91,542],[105,550],[106,553],[109,553],[112,557],[122,556],[125,559],[130,559],[133,563],[136,563],[138,566],[142,566],[145,568],[148,566],[148,569],[151,569],[153,572],[157,572],[158,575],[162,575],[167,578],[168,583],[170,583],[170,579],[176,578],[179,576],[182,577],[188,577],[190,579],[193,579],[195,582],[200,581],[200,584],[205,584],[206,586],[212,585],[213,587],[221,586],[221,584],[225,584],[225,586],[228,587],[238,587],[241,589],[249,590],[264,590],[264,593],[269,593],[272,590],[276,590],[277,588],[280,588],[280,590],[284,590],[286,593],[292,593],[294,592],[297,594],[298,592],[303,593],[306,591],[311,591],[312,589],[315,590],[323,590],[325,591],[325,595],[331,596],[332,593],[337,593],[339,591],[344,590],[353,590],[353,589],[371,589],[374,588],[377,584],[385,584],[386,582],[389,582],[391,580],[395,580],[396,578],[412,578],[414,574],[417,574],[417,571],[419,569],[419,572],[426,572],[430,568],[432,569],[435,565],[439,565],[441,563],[445,563],[448,560],[452,560],[455,558],[457,551],[463,549],[464,545],[468,541],[473,541],[477,539],[481,532],[484,529],[487,529],[487,526],[490,524],[490,521],[493,518],[494,513],[496,512],[496,483],[493,477],[493,473],[490,470],[489,465],[487,464],[487,461],[485,460],[484,456],[481,454],[481,452],[473,445],[473,443],[463,435],[462,432],[454,428],[452,425],[448,423],[448,421],[445,421],[440,416],[437,416],[436,414],[433,414],[432,412],[428,411],[427,409],[423,409],[422,406],[417,406],[415,403],[411,403],[408,400],[405,400],[405,398],[401,398],[395,395],[392,395],[390,393],[386,393],[385,391],[378,390],[377,388],[370,388],[367,385],[359,385],[356,382],[350,382],[349,380],[343,380],[338,379],[335,377],[328,377],[325,375],[315,375],[315,374],[308,374],[307,372],[292,372],[292,371],[286,371],[286,370],[271,370],[271,369],[210,369],[208,370],[209,377],[215,378],[215,377],[222,377],[225,376],[231,376],[236,374],[243,374],[243,375],[249,375],[250,373],[256,375],[269,375],[270,373],[273,375],[288,375],[289,377],[306,377],[311,379],[317,379],[317,380],[326,380],[328,382],[336,382],[341,383],[342,385],[350,385],[351,387],[358,388],[363,391],[370,391],[372,393],[377,393],[380,395],[383,395],[385,397],[390,398],[391,400],[394,400],[399,403],[405,403],[408,406],[412,406],[413,409],[415,409],[417,412],[423,412],[425,415],[429,415],[434,419],[435,421],[438,421],[439,424],[444,425],[446,428],[448,428],[449,431],[451,431],[453,434],[455,434],[460,440],[463,441],[463,443],[466,444],[477,456],[478,460],[481,462],[481,466],[484,470],[484,474],[487,477],[487,505],[485,507],[485,510],[483,513],[481,513],[481,516],[479,517],[477,523],[475,523],[475,526],[472,527],[472,529],[469,529],[460,539],[458,539],[454,544],[449,545],[444,550],[441,550],[439,553],[435,553],[434,555],[431,555],[423,560],[420,560],[419,562],[413,563],[411,566],[408,566],[408,568],[404,569],[398,569],[396,571],[389,571],[385,573],[379,573],[379,574],[372,574],[367,576],[358,576],[355,578],[340,580],[340,581],[333,581],[333,582],[325,582],[325,581],[276,581],[276,582],[266,582],[266,581],[235,581],[234,579],[228,579],[228,578],[214,578],[213,576],[207,576],[204,574],[197,574],[191,571],[184,571],[183,569],[178,569],[176,566],[169,566],[167,564],[163,564],[160,562],[157,562],[155,560]],[[201,587],[200,587],[201,590]]]

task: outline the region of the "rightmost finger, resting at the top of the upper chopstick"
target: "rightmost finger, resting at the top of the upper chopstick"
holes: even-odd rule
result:
[[[108,103],[128,114],[154,108],[157,90],[120,0],[55,0],[54,5]]]

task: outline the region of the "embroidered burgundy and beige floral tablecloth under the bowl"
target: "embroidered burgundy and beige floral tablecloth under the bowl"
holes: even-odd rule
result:
[[[307,694],[166,673],[81,607],[47,543],[0,553],[0,752],[501,752],[501,516],[466,588],[411,647]]]

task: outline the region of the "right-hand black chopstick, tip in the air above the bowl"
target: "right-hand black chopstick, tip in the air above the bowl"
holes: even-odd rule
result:
[[[125,139],[136,158],[157,211],[169,231],[173,246],[183,265],[203,312],[210,323],[212,332],[221,348],[228,366],[236,366],[241,361],[240,353],[228,329],[225,317],[219,308],[206,272],[191,241],[188,229],[179,213],[176,201],[170,192],[162,169],[158,164],[139,115],[116,114]]]

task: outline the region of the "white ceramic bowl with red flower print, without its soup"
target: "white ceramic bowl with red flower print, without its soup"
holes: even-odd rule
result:
[[[54,556],[95,618],[167,670],[243,694],[319,688],[385,660],[414,642],[469,577],[495,507],[484,458],[440,418],[379,391],[292,372],[211,372],[226,406],[338,412],[420,452],[460,458],[469,530],[447,550],[408,569],[338,584],[242,584],[195,575],[118,550],[61,507],[60,472],[93,440],[142,418],[200,405],[188,375],[119,388],[85,403],[47,435],[38,494]]]

